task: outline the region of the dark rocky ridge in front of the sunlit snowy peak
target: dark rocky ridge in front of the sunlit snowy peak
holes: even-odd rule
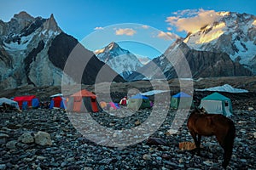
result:
[[[188,65],[187,65],[188,64]],[[131,75],[131,80],[200,77],[252,76],[252,72],[228,54],[198,51],[177,40],[165,54],[153,59],[148,65]]]

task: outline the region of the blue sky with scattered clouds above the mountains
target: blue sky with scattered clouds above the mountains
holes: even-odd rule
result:
[[[255,0],[1,0],[0,20],[26,11],[54,14],[61,30],[92,51],[118,42],[131,53],[154,58],[177,36],[185,37],[219,11],[256,15]]]

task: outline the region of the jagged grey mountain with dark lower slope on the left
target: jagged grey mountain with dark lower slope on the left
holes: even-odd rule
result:
[[[117,75],[108,65],[96,58],[95,54],[67,35],[57,25],[54,15],[49,19],[32,17],[26,12],[15,14],[9,22],[0,20],[0,87],[17,88],[27,84],[36,87],[61,85],[63,69],[73,51],[79,47],[80,59],[88,60],[80,79],[69,75],[68,81],[93,84],[102,66],[105,76],[99,81],[106,82],[108,75]],[[73,61],[73,67],[79,63]],[[82,80],[81,80],[82,79]],[[117,75],[113,81],[123,82]]]

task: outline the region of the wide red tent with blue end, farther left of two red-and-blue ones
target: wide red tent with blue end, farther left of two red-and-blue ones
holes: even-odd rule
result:
[[[29,108],[38,108],[39,99],[35,95],[18,96],[14,98],[18,102],[20,109],[26,110]]]

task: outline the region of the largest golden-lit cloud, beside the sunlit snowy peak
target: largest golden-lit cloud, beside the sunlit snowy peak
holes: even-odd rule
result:
[[[183,10],[173,13],[174,16],[167,17],[166,22],[170,26],[176,26],[177,31],[196,32],[200,31],[201,27],[211,25],[217,21],[220,14],[214,10],[193,9]]]

